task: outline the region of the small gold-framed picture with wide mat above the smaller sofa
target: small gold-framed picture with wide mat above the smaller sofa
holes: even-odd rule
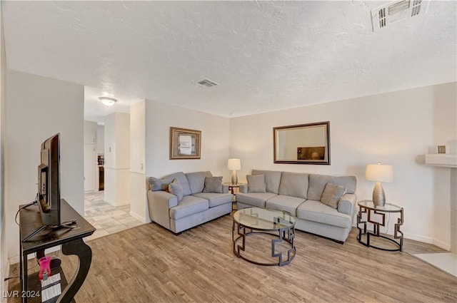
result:
[[[170,128],[170,160],[200,159],[201,131]]]

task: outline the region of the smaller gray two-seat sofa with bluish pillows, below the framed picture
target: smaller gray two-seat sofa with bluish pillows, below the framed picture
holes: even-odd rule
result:
[[[230,214],[233,195],[221,182],[222,177],[213,177],[209,171],[149,178],[151,220],[179,233]]]

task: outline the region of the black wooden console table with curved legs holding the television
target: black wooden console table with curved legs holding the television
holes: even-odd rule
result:
[[[19,207],[24,206],[20,205]],[[74,296],[84,283],[92,261],[91,247],[86,245],[83,238],[92,235],[96,230],[95,227],[87,222],[84,217],[81,217],[64,199],[61,200],[61,220],[77,220],[78,222],[75,226],[63,226],[71,228],[65,228],[64,230],[61,230],[61,228],[45,228],[50,226],[43,225],[38,205],[21,210],[19,215],[19,250],[21,257],[19,262],[19,278],[21,279],[20,293],[25,294],[22,297],[22,302],[41,303],[41,298],[26,296],[26,294],[36,294],[41,290],[38,272],[28,274],[27,256],[35,252],[37,257],[44,256],[44,250],[58,245],[62,245],[61,252],[64,255],[76,255],[79,258],[79,265],[76,267],[74,277],[69,279],[69,284],[66,284],[66,278],[64,273],[61,272],[61,267],[51,271],[51,274],[53,272],[61,272],[61,294],[55,298],[57,302],[61,303],[74,302]],[[56,227],[61,226],[56,225]],[[28,236],[24,237],[24,235]],[[32,240],[31,237],[33,237]],[[29,240],[26,240],[26,238],[29,238]]]

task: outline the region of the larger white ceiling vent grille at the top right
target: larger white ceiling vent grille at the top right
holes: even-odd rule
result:
[[[425,14],[428,9],[428,3],[429,1],[423,0],[402,0],[372,9],[373,31],[379,31],[389,24],[394,24],[418,14]]]

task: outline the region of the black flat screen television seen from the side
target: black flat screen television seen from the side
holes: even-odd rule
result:
[[[60,133],[41,143],[38,205],[44,225],[60,225]]]

